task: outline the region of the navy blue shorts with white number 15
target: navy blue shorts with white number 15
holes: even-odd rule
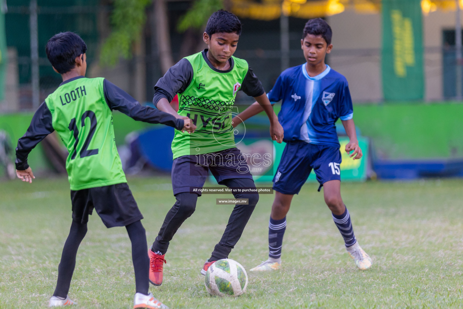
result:
[[[282,159],[275,177],[273,189],[283,194],[298,194],[313,169],[320,183],[341,180],[339,147],[314,145],[304,141],[290,141],[283,150]]]

